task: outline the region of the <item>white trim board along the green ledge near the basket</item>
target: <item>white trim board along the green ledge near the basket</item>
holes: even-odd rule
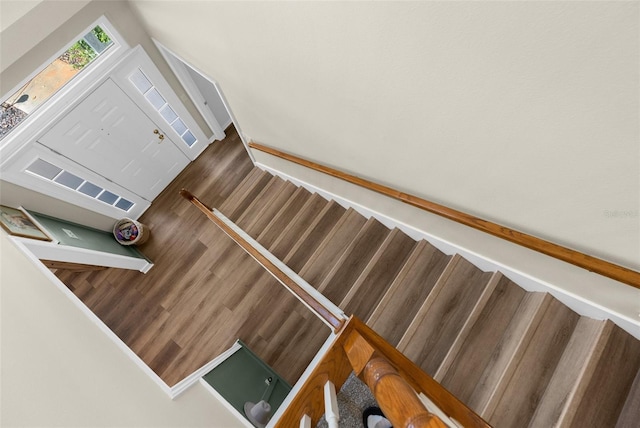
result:
[[[59,245],[54,242],[15,237],[36,259],[84,265],[106,266],[119,269],[137,270],[147,273],[153,267],[148,260],[120,254],[105,253],[86,248]]]

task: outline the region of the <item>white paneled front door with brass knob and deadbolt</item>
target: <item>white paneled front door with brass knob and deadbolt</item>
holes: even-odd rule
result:
[[[110,78],[39,141],[148,201],[189,163]]]

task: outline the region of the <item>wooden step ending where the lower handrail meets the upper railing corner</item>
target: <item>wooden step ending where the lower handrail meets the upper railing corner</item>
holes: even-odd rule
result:
[[[389,233],[340,307],[361,320],[369,318],[417,243],[399,229]]]

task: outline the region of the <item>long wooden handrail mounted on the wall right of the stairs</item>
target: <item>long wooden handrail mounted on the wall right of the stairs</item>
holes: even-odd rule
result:
[[[420,208],[433,214],[437,214],[441,217],[464,224],[465,226],[472,227],[493,236],[497,236],[509,242],[513,242],[539,253],[554,257],[558,260],[562,260],[572,265],[579,266],[588,271],[615,279],[616,281],[623,282],[625,284],[631,285],[632,287],[640,288],[640,272],[631,270],[624,266],[620,266],[615,263],[608,262],[606,260],[602,260],[597,257],[593,257],[558,244],[554,244],[553,242],[549,242],[544,239],[519,232],[517,230],[487,220],[483,220],[479,217],[472,216],[462,211],[458,211],[453,208],[449,208],[444,205],[440,205],[435,202],[410,195],[408,193],[400,192],[399,190],[393,189],[391,187],[384,186],[373,181],[365,180],[355,175],[347,174],[340,170],[300,158],[298,156],[280,151],[278,149],[274,149],[272,147],[258,144],[253,141],[249,143],[249,147],[279,157],[281,159],[303,165],[315,171],[328,174],[332,177],[340,178],[349,183],[362,186],[368,190],[397,199],[411,206]]]

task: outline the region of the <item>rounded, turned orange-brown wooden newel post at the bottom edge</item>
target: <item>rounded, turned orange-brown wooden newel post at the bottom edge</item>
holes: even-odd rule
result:
[[[383,357],[374,356],[369,360],[362,375],[393,426],[412,428],[445,426],[438,417],[429,413],[413,388]]]

